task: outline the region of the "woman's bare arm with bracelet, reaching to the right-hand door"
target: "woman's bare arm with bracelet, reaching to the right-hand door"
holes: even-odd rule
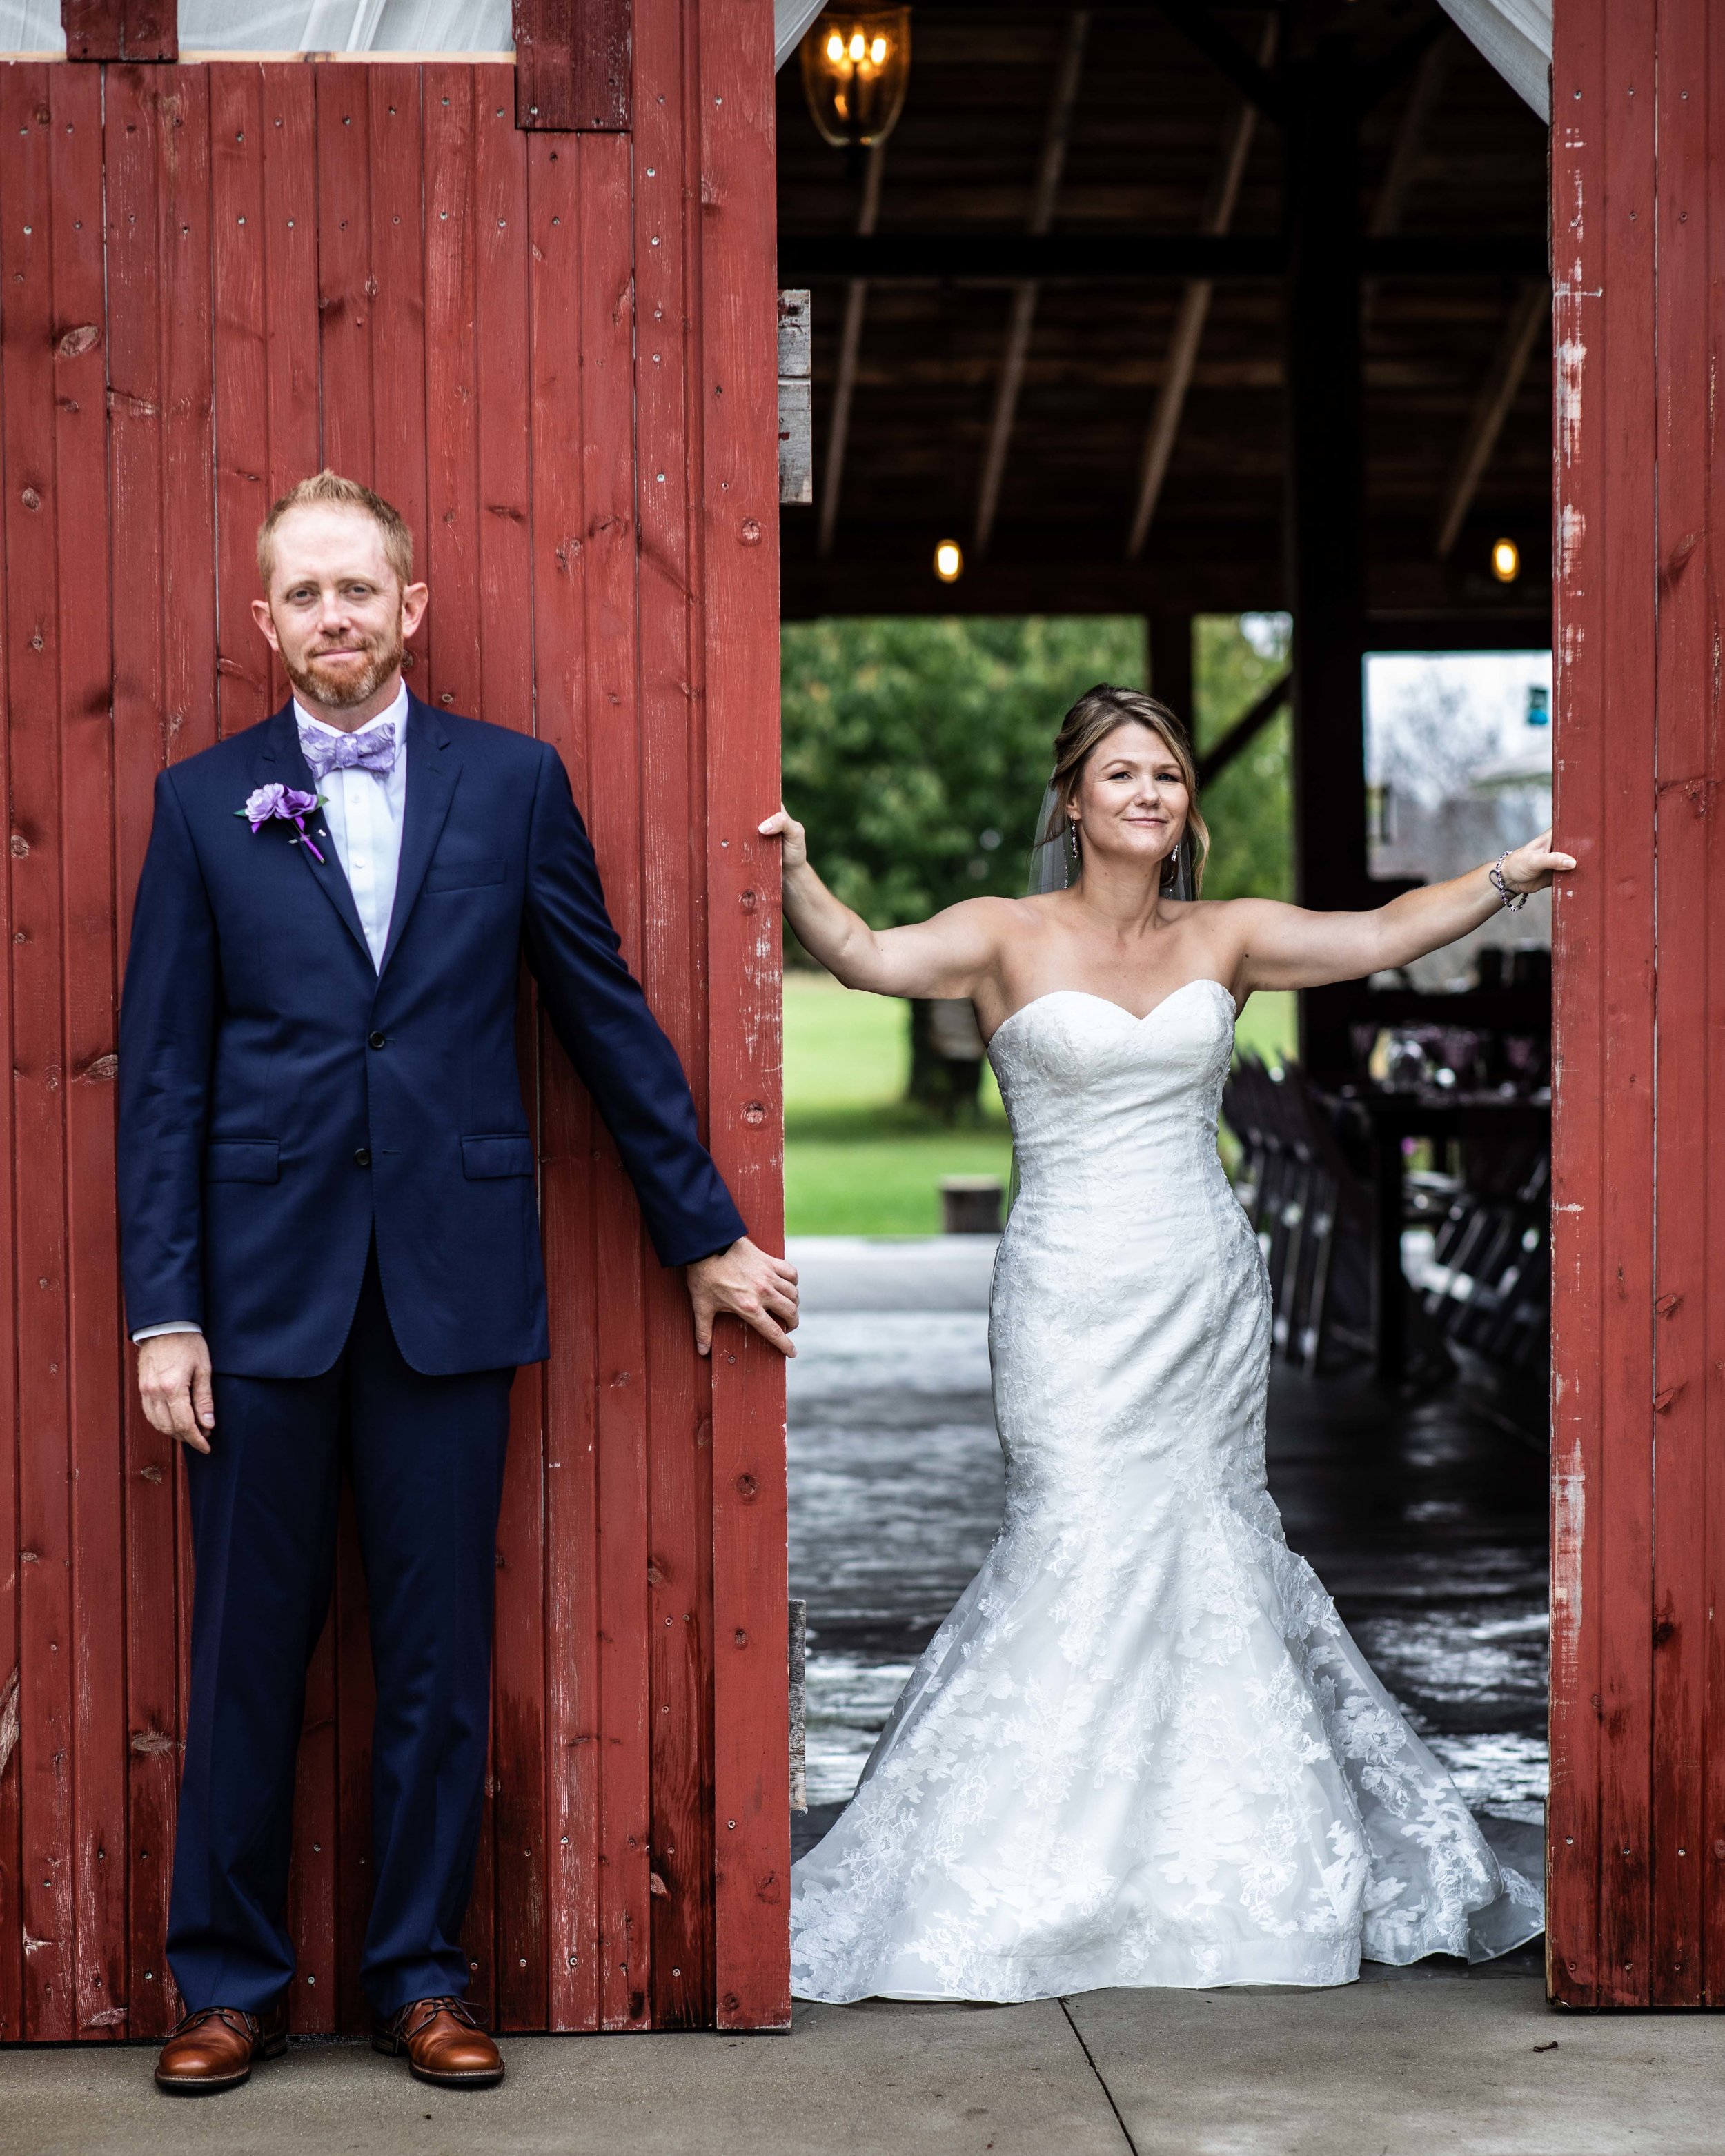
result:
[[[1572,854],[1552,854],[1550,832],[1516,847],[1503,862],[1512,890],[1544,890],[1552,875],[1574,869]],[[1358,914],[1313,914],[1274,899],[1236,899],[1229,927],[1240,936],[1242,990],[1322,987],[1361,981],[1384,966],[1440,951],[1466,936],[1503,906],[1490,865],[1468,869],[1447,884],[1404,890],[1389,906]]]

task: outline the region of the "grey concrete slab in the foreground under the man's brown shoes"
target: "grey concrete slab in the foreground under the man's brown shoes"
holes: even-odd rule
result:
[[[157,2096],[142,2046],[0,2061],[4,2156],[1716,2156],[1706,2016],[1563,2016],[1537,1977],[800,2007],[781,2037],[511,2037],[446,2096],[360,2044]]]

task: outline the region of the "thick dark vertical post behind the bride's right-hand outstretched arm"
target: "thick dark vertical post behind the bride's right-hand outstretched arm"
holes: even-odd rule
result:
[[[1294,610],[1294,886],[1300,906],[1371,903],[1365,871],[1365,658],[1358,101],[1350,45],[1289,56],[1287,595]],[[1300,1059],[1348,1067],[1352,990],[1300,996]]]

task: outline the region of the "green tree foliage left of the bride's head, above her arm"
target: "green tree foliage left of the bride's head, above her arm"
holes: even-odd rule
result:
[[[787,623],[785,804],[873,927],[1022,893],[1061,718],[1143,675],[1136,619]]]

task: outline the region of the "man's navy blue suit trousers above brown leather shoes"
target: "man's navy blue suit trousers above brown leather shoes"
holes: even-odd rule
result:
[[[285,1927],[306,1664],[330,1608],[343,1470],[371,1602],[371,1921],[380,2014],[468,1988],[459,1947],[485,1796],[492,1600],[513,1369],[427,1378],[390,1330],[377,1253],[319,1378],[216,1373],[185,1455],[196,1587],[168,1964],[188,2007],[270,2005]]]

